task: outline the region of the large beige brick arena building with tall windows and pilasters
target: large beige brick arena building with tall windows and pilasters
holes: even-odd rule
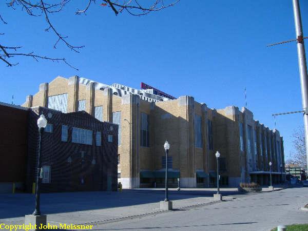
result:
[[[118,178],[124,188],[163,185],[165,140],[170,143],[170,185],[179,178],[181,187],[214,186],[217,150],[222,185],[267,184],[269,161],[274,181],[283,178],[279,131],[255,121],[247,108],[210,109],[187,95],[176,99],[149,86],[139,90],[78,76],[40,84],[23,106],[85,110],[100,121],[119,124]]]

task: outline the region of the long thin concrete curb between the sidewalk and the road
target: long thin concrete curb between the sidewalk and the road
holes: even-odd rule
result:
[[[147,216],[151,216],[151,215],[169,213],[171,211],[184,210],[185,208],[201,207],[201,206],[205,206],[205,205],[216,204],[216,203],[219,203],[219,202],[223,202],[223,201],[209,201],[209,202],[201,203],[201,204],[183,206],[183,207],[175,208],[175,209],[172,209],[172,210],[158,210],[158,211],[153,211],[151,213],[146,213],[146,214],[138,214],[138,215],[132,215],[132,216],[127,216],[127,217],[121,217],[121,218],[112,218],[112,219],[106,219],[106,220],[102,220],[102,221],[93,221],[93,222],[81,223],[81,224],[78,224],[78,225],[108,224],[108,223],[112,223],[112,222],[124,221],[124,220],[129,220],[129,219],[134,219],[134,218],[141,218],[141,217],[147,217]]]

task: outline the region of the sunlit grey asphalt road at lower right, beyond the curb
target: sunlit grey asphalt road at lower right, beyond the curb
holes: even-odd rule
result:
[[[308,223],[308,213],[300,210],[307,203],[307,187],[288,188],[240,196],[233,201],[99,224],[93,230],[271,230],[279,224]]]

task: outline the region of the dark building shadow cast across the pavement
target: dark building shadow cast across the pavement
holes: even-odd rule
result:
[[[181,200],[197,197],[213,197],[216,191],[169,191],[170,200]],[[243,194],[238,191],[222,192],[223,196]],[[123,190],[59,192],[41,194],[41,211],[43,214],[69,213],[92,209],[125,207],[157,203],[165,198],[164,190]],[[34,195],[3,194],[0,200],[0,220],[23,217],[34,210]]]

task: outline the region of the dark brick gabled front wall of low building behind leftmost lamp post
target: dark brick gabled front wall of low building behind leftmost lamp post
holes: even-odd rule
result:
[[[36,108],[29,115],[29,148],[27,189],[36,176],[38,129],[36,120],[43,113],[53,132],[42,136],[42,165],[51,166],[50,183],[42,183],[43,192],[117,190],[118,125],[100,122],[85,111],[61,113]],[[38,112],[38,114],[37,114]],[[48,117],[49,114],[49,117]],[[50,117],[51,116],[51,117]],[[62,125],[68,126],[68,141],[61,141]],[[72,143],[72,127],[92,130],[92,145]],[[110,128],[112,127],[112,128]],[[101,146],[96,145],[96,132],[102,134]],[[113,142],[107,141],[112,134]]]

